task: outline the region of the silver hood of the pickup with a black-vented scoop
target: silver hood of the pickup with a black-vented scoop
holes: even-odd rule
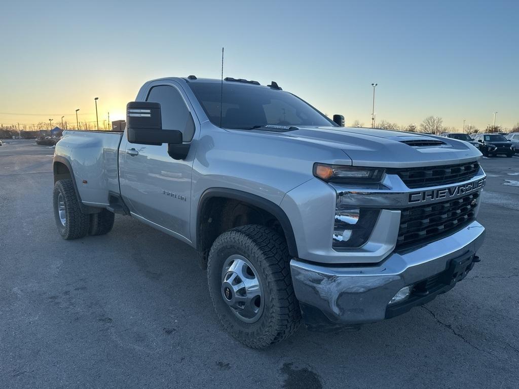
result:
[[[474,161],[482,156],[479,150],[467,142],[435,135],[371,128],[298,127],[297,130],[275,133],[275,136],[292,137],[341,149],[357,166],[406,168],[445,165]]]

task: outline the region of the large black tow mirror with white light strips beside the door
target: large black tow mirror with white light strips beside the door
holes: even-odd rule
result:
[[[132,101],[126,105],[128,142],[160,146],[163,143],[181,144],[182,132],[162,130],[160,103]]]

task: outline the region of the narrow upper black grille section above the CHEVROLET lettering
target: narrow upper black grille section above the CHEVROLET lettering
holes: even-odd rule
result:
[[[424,168],[388,169],[387,172],[398,174],[408,188],[414,189],[461,183],[474,177],[479,170],[479,162],[469,162]]]

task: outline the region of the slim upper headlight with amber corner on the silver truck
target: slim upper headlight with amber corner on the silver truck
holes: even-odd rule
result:
[[[377,184],[384,176],[384,169],[314,163],[313,175],[323,181],[333,183]]]

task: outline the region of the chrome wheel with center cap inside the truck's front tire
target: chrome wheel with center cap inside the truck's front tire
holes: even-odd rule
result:
[[[263,286],[252,263],[241,255],[231,255],[222,269],[222,298],[243,322],[254,323],[263,313]]]

